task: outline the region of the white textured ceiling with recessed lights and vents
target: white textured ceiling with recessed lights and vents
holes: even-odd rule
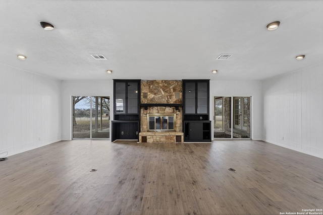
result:
[[[318,0],[0,1],[0,63],[59,80],[264,80],[323,59]]]

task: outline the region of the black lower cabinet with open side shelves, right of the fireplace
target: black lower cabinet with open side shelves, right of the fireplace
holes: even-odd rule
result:
[[[183,124],[184,141],[211,141],[211,121],[184,121]]]

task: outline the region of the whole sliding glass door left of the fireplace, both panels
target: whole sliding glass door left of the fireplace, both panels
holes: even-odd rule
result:
[[[73,138],[110,138],[110,98],[72,97]]]

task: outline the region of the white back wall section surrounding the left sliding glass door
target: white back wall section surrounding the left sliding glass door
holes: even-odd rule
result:
[[[72,96],[110,96],[113,101],[113,80],[63,81],[62,84],[62,139],[72,139]],[[113,113],[111,102],[110,113]],[[113,114],[110,114],[112,119]]]

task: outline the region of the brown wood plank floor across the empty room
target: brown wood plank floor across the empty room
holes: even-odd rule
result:
[[[280,214],[323,208],[323,159],[262,141],[61,141],[9,157],[0,162],[0,173],[0,214]]]

